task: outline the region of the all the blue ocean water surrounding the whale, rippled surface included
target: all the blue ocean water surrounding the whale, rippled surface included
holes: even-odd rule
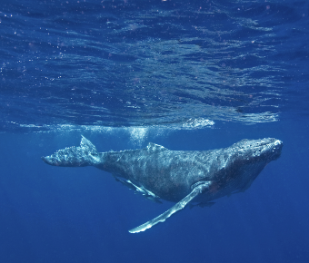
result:
[[[3,1],[4,2],[4,1]],[[5,1],[0,8],[1,262],[308,262],[307,1]],[[169,209],[78,145],[210,150],[274,137],[244,193]]]

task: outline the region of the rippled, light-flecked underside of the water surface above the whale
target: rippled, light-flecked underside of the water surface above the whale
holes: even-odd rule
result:
[[[3,131],[308,114],[306,1],[13,0],[0,22]]]

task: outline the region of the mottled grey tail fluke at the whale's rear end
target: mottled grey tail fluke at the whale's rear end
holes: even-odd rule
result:
[[[82,135],[79,147],[73,146],[56,151],[50,156],[42,157],[42,160],[50,165],[72,167],[95,165],[100,157],[95,145]]]

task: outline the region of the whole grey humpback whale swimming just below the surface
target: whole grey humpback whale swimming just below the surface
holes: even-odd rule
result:
[[[111,172],[147,199],[177,202],[155,219],[129,230],[137,233],[164,222],[189,202],[203,207],[213,204],[211,200],[248,189],[264,166],[280,156],[282,147],[282,141],[265,138],[211,151],[170,151],[150,142],[144,149],[98,152],[82,136],[79,147],[42,159],[55,166],[92,165]]]

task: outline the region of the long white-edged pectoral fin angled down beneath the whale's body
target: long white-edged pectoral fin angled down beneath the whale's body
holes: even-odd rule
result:
[[[142,232],[142,231],[145,231],[146,229],[150,229],[151,227],[153,227],[157,223],[164,222],[165,219],[168,219],[169,217],[171,217],[178,210],[184,209],[184,207],[191,200],[193,200],[194,197],[196,197],[197,195],[202,193],[205,189],[209,188],[210,184],[211,184],[211,181],[204,181],[203,183],[197,185],[183,200],[180,200],[171,209],[168,209],[167,211],[165,211],[163,214],[156,217],[155,219],[152,219],[152,220],[146,222],[145,224],[143,224],[143,225],[141,225],[141,226],[139,226],[135,229],[129,230],[129,232],[130,233]]]

